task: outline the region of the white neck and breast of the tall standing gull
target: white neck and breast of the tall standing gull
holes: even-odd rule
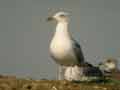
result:
[[[67,31],[66,23],[58,23],[50,44],[50,53],[59,64],[73,65],[78,63],[74,55],[72,40]]]

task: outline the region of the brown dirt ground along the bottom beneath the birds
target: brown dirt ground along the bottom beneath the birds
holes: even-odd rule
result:
[[[0,90],[120,90],[120,84],[32,80],[0,76]]]

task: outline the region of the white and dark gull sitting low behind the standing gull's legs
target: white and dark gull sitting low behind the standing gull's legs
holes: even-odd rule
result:
[[[99,67],[84,62],[79,66],[75,65],[67,67],[64,77],[68,81],[101,81],[103,73]]]

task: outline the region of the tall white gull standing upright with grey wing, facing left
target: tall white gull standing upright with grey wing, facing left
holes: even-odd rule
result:
[[[80,44],[72,37],[69,32],[69,13],[57,12],[48,17],[48,21],[56,21],[56,30],[50,43],[50,54],[54,61],[60,65],[58,79],[62,79],[62,67],[74,66],[84,62],[83,52]]]

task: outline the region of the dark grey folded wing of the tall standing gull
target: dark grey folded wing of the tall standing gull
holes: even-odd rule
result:
[[[77,43],[76,40],[73,40],[73,50],[75,52],[75,55],[76,55],[76,58],[78,59],[78,61],[80,63],[84,62],[84,55],[83,55],[81,46],[80,46],[80,44]]]

